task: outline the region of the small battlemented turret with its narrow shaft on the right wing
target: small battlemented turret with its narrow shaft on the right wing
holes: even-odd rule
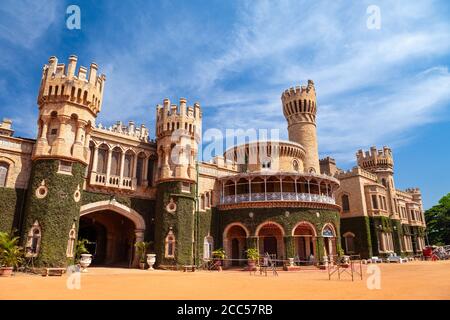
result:
[[[358,150],[356,160],[358,166],[374,173],[378,177],[378,182],[386,187],[392,218],[400,219],[395,204],[394,159],[391,149],[385,146],[381,150],[376,147],[371,147],[370,151],[366,152]]]

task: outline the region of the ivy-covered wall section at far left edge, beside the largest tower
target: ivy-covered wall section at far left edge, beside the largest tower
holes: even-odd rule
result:
[[[0,232],[20,233],[26,192],[25,189],[0,188]]]

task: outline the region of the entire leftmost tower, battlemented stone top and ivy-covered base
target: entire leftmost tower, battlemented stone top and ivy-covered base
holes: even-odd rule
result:
[[[38,266],[65,266],[73,258],[89,140],[100,112],[105,76],[77,57],[67,67],[50,57],[37,103],[38,136],[32,156],[23,235],[26,254]],[[39,237],[36,236],[39,235]]]

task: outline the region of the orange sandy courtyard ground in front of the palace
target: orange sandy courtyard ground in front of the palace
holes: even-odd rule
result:
[[[450,261],[379,264],[381,289],[363,280],[328,280],[327,271],[270,273],[242,271],[176,272],[91,268],[79,290],[69,290],[67,276],[16,274],[0,278],[0,299],[450,299]]]

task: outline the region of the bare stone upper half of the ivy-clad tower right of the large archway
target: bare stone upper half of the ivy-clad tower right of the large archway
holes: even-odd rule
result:
[[[185,98],[179,105],[164,99],[156,106],[156,137],[159,182],[196,180],[195,161],[201,139],[202,113],[199,103],[188,106]]]

